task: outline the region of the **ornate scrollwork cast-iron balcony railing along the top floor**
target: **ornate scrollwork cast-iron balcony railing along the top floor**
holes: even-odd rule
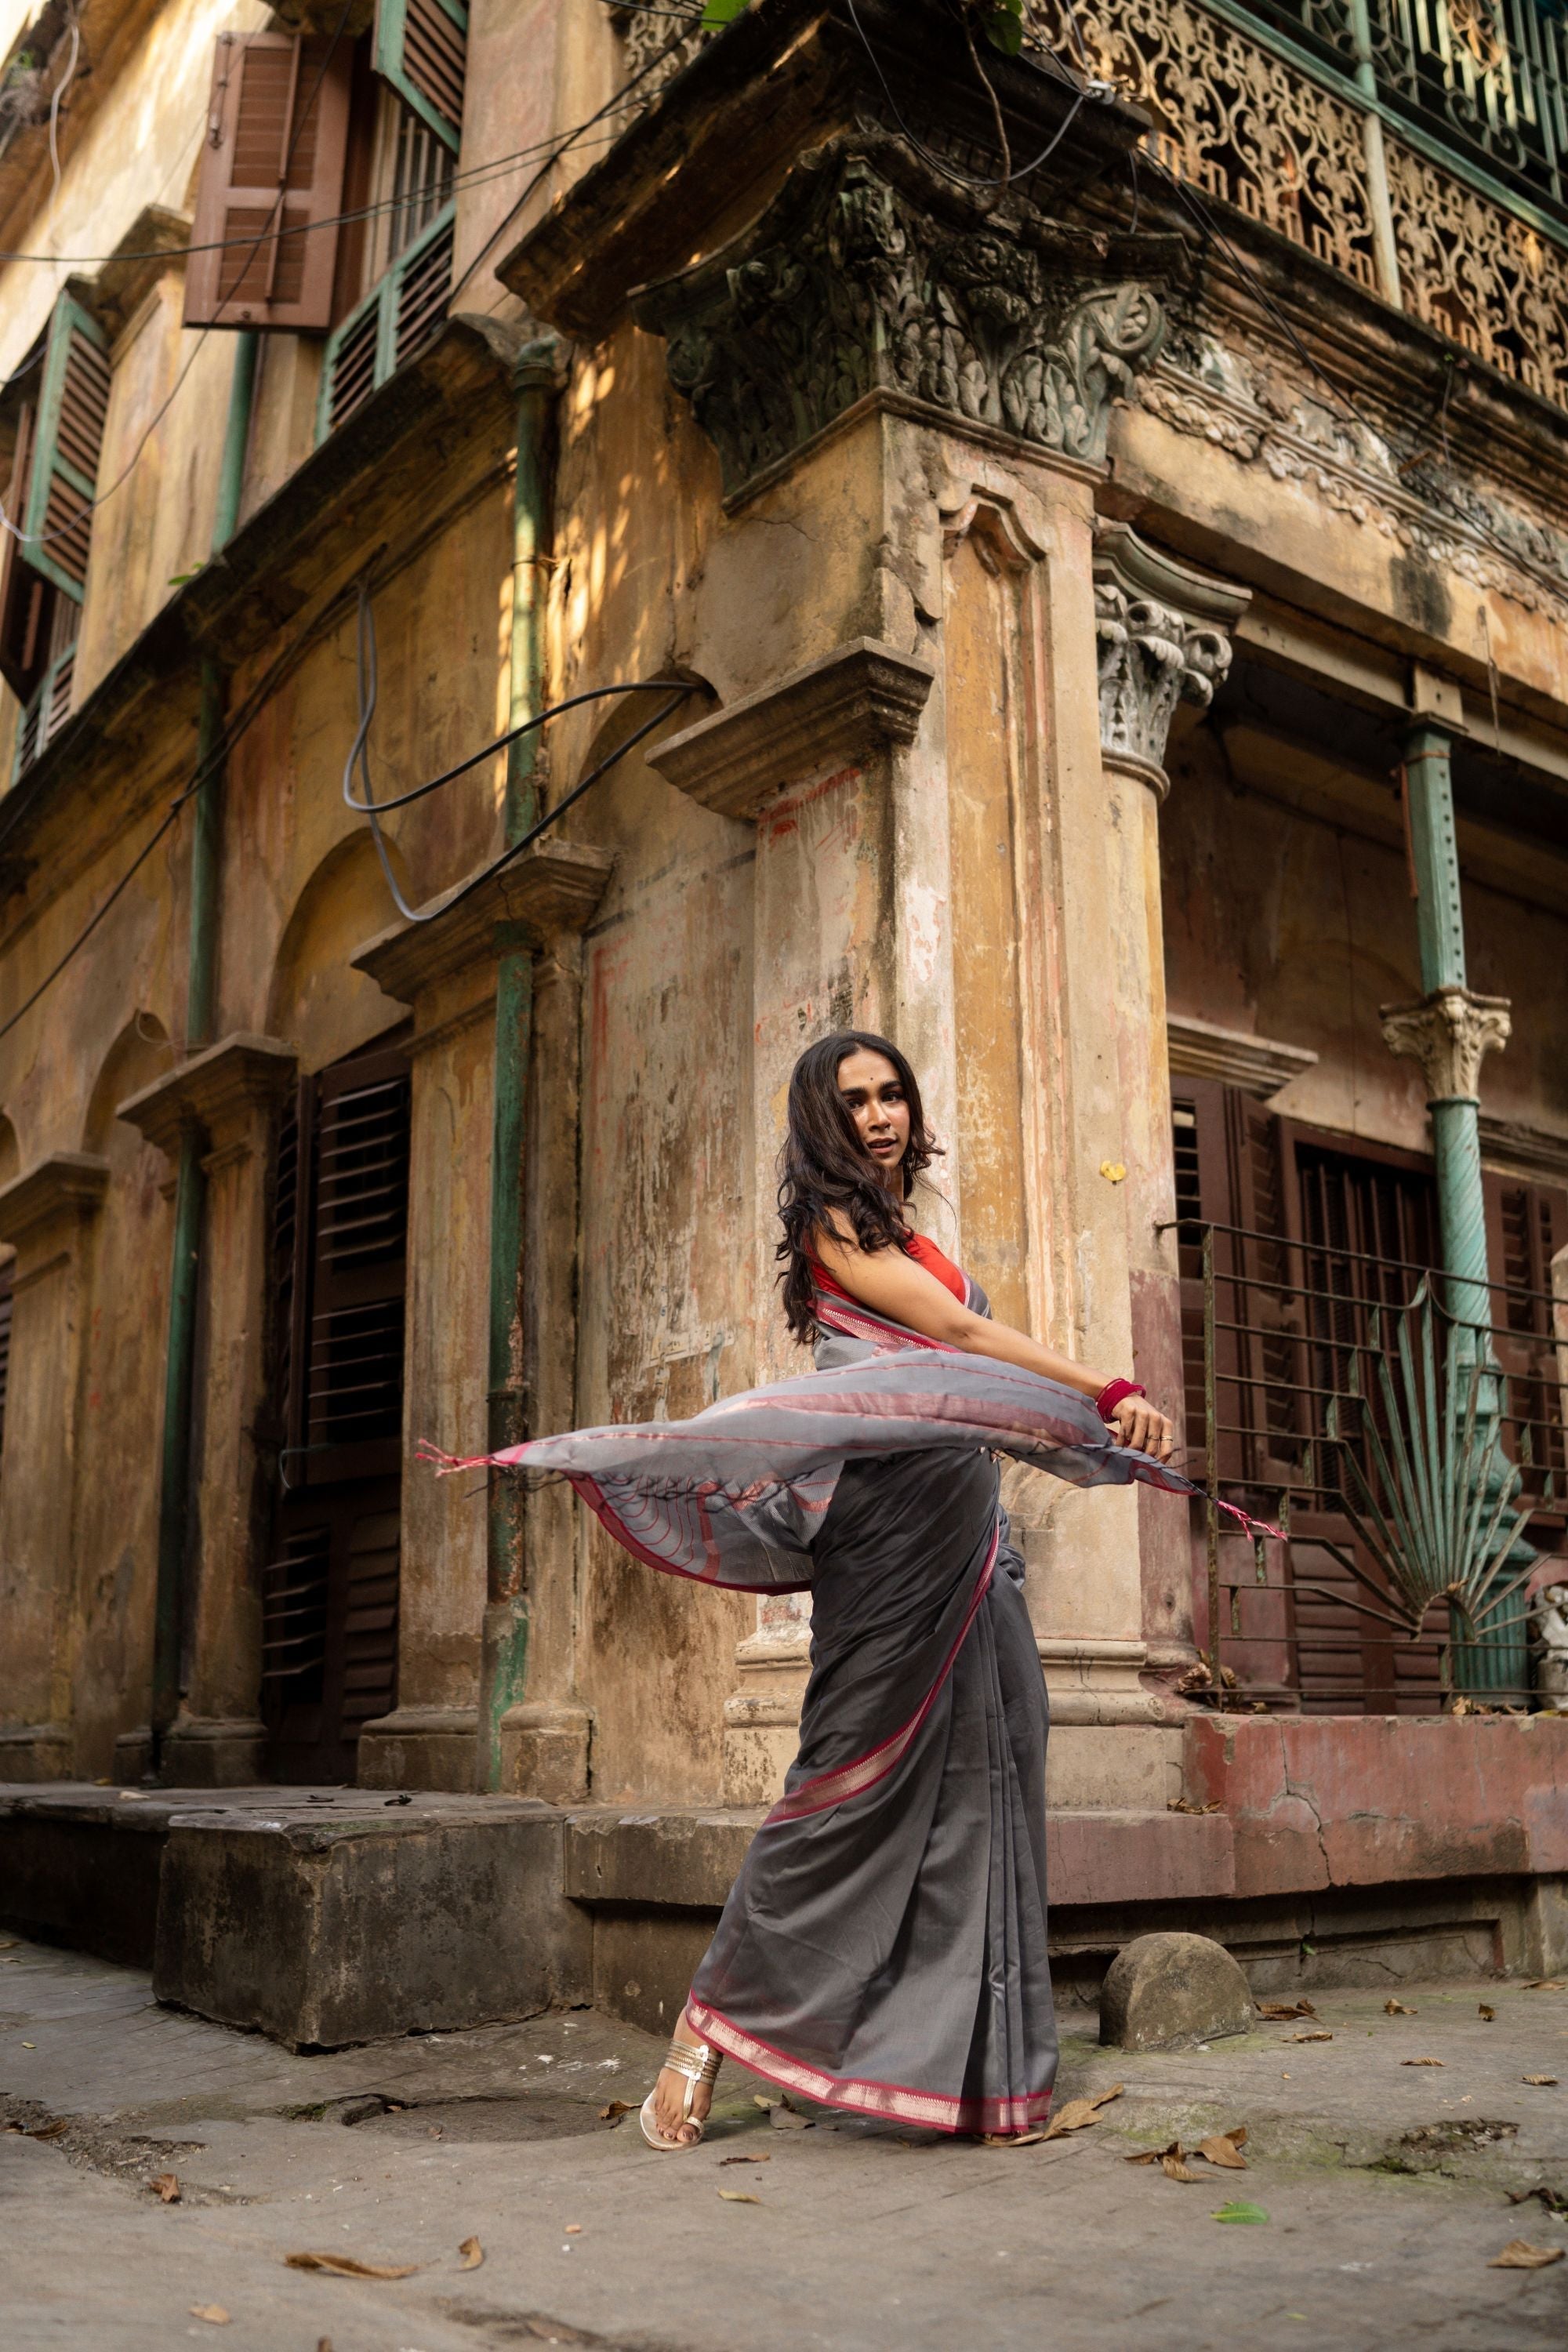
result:
[[[1568,24],[1552,0],[1025,0],[1178,179],[1568,407]],[[693,9],[696,19],[696,9]],[[621,12],[649,101],[696,56]]]

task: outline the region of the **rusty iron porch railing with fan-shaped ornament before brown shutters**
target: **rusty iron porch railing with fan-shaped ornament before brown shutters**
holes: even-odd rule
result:
[[[1568,1505],[1568,1301],[1497,1284],[1490,1324],[1455,1324],[1418,1265],[1237,1225],[1182,1223],[1178,1242],[1201,1275],[1182,1355],[1187,1470],[1211,1496],[1204,1696],[1528,1705],[1528,1550],[1559,1552]],[[1227,1534],[1218,1498],[1291,1543]],[[1486,1595],[1469,1623],[1441,1597],[1465,1569]]]

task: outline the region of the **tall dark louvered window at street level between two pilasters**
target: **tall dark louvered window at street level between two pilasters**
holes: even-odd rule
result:
[[[280,1780],[353,1780],[397,1693],[409,1061],[301,1082],[277,1138],[280,1475],[261,1571],[261,1715]]]

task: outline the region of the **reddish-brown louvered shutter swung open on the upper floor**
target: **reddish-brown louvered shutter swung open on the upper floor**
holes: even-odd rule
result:
[[[331,325],[350,85],[353,42],[219,33],[186,327]]]

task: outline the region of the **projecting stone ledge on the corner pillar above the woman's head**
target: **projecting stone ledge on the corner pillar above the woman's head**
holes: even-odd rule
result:
[[[912,743],[936,670],[853,637],[771,687],[665,736],[649,767],[719,816],[757,816],[785,786]]]

